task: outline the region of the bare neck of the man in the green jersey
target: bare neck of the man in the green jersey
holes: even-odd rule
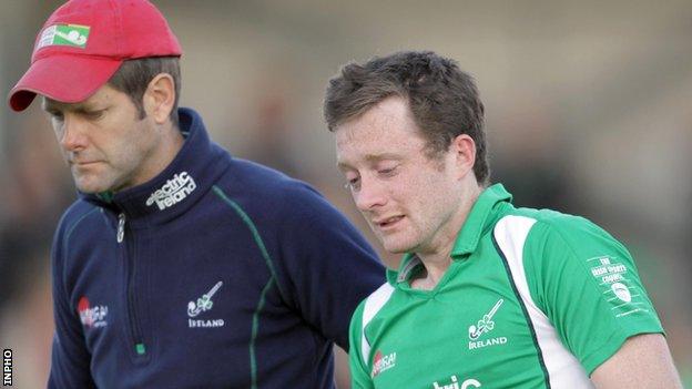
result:
[[[451,265],[451,249],[457,239],[457,235],[461,231],[464,223],[466,222],[469,213],[471,212],[471,207],[478,199],[478,196],[482,192],[482,187],[478,184],[471,185],[467,193],[460,196],[458,212],[455,213],[449,223],[447,223],[446,228],[440,228],[438,236],[435,237],[437,240],[434,249],[429,250],[420,250],[416,252],[418,258],[425,266],[425,272],[420,275],[420,277],[411,280],[411,287],[419,289],[432,289],[437,286],[439,280],[445,275],[445,272]]]

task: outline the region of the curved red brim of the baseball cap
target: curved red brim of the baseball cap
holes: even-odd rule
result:
[[[79,55],[39,59],[12,88],[8,103],[12,110],[23,111],[37,94],[63,103],[84,101],[110,80],[122,62]]]

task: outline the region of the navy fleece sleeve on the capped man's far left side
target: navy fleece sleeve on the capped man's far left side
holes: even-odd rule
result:
[[[61,223],[63,227],[64,223]],[[91,378],[91,355],[84,344],[77,310],[70,309],[64,285],[63,228],[59,227],[51,250],[51,278],[55,331],[51,351],[48,388],[95,388]]]

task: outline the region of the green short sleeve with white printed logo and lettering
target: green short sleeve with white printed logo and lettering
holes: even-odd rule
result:
[[[532,297],[589,375],[629,337],[663,332],[632,256],[593,223],[539,222],[525,250]]]

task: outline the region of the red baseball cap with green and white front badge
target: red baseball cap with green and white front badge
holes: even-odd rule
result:
[[[39,32],[31,66],[8,102],[23,111],[37,94],[64,102],[86,100],[125,60],[180,57],[163,14],[146,0],[71,0]]]

